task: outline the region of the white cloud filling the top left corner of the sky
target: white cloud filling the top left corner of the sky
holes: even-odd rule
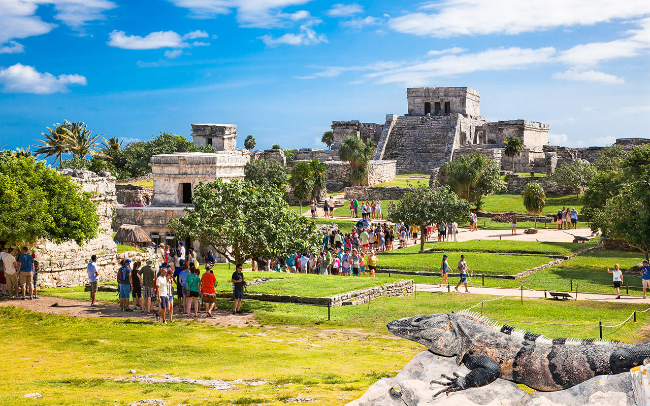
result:
[[[53,5],[55,18],[77,30],[88,21],[103,19],[105,10],[116,7],[107,0],[0,0],[0,45],[15,38],[45,34],[57,27],[36,16],[40,5]]]

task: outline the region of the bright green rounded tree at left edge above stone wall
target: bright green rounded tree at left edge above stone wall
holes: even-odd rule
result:
[[[0,154],[0,240],[32,245],[39,238],[77,244],[97,236],[99,216],[90,194],[45,161]]]

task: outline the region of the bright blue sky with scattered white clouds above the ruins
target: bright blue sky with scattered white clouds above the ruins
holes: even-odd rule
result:
[[[469,86],[487,120],[606,145],[650,136],[649,53],[647,0],[0,0],[0,146],[67,119],[322,147],[333,120],[404,114],[413,86]]]

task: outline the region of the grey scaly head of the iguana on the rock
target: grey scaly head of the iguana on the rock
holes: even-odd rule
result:
[[[386,327],[394,335],[418,342],[437,355],[453,357],[460,354],[456,318],[453,319],[446,313],[418,314],[393,320]]]

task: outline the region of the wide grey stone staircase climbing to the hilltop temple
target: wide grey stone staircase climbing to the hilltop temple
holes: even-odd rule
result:
[[[397,117],[383,159],[396,160],[397,173],[430,173],[452,157],[457,122],[450,116]]]

